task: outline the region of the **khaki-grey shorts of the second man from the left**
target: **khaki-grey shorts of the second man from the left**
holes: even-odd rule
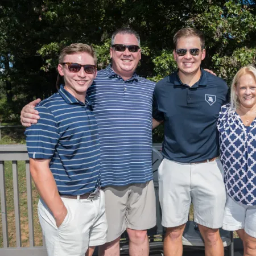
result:
[[[156,225],[153,181],[126,186],[108,186],[105,192],[108,220],[107,242],[114,241],[126,228],[146,230]]]

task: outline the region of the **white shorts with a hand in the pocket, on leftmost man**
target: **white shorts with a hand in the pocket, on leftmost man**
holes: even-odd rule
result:
[[[40,199],[38,203],[48,256],[84,256],[88,246],[103,245],[108,228],[104,192],[94,200],[63,197],[61,200],[68,213],[59,228],[44,201]]]

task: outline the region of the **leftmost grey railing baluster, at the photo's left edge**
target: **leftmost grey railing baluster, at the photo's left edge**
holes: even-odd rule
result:
[[[0,161],[0,192],[2,210],[3,247],[9,247],[6,196],[5,196],[5,164]]]

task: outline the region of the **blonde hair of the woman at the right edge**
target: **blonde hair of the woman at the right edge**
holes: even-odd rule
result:
[[[230,88],[230,108],[232,108],[233,110],[236,110],[237,108],[240,107],[240,101],[236,94],[236,86],[241,76],[246,74],[250,74],[251,76],[253,76],[256,81],[256,68],[254,67],[253,64],[240,68],[233,78],[231,88]]]

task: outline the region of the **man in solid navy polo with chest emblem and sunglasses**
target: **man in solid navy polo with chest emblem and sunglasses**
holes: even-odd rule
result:
[[[164,122],[164,160],[159,167],[164,255],[181,256],[182,234],[191,201],[204,238],[205,255],[224,255],[218,232],[226,193],[220,163],[217,118],[226,101],[226,83],[200,68],[204,35],[183,28],[174,36],[178,71],[156,84],[153,127]]]

